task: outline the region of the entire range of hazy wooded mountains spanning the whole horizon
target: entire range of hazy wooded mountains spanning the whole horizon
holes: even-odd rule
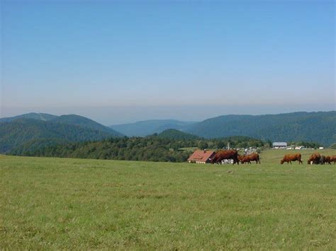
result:
[[[174,129],[174,130],[167,130]],[[106,127],[79,115],[28,113],[0,119],[0,152],[21,146],[49,146],[97,141],[120,136],[160,136],[174,139],[249,136],[267,141],[336,142],[336,112],[292,112],[279,115],[223,115],[202,122],[155,119]]]

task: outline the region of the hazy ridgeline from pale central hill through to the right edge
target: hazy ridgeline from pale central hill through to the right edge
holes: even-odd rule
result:
[[[202,122],[157,119],[118,124],[111,128],[127,136],[147,136],[166,129],[177,129],[203,138],[239,135],[270,141],[311,141],[330,146],[336,143],[336,112],[223,115]]]

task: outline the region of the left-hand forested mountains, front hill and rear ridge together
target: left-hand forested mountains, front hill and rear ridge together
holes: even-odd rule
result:
[[[123,136],[91,119],[76,115],[48,117],[47,121],[40,116],[28,117],[33,118],[21,116],[6,118],[5,122],[0,122],[0,153],[7,153],[21,146],[34,148],[34,146],[96,141]]]

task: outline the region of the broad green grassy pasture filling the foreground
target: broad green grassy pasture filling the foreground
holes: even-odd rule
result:
[[[0,156],[0,249],[335,250],[336,165]],[[320,151],[336,155],[336,151]]]

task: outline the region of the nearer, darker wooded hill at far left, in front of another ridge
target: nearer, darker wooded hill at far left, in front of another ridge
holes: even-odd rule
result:
[[[75,124],[21,118],[0,123],[0,153],[23,146],[30,150],[33,146],[42,147],[45,144],[40,144],[40,141],[46,139],[48,145],[72,141],[95,141],[113,136],[116,134]]]

